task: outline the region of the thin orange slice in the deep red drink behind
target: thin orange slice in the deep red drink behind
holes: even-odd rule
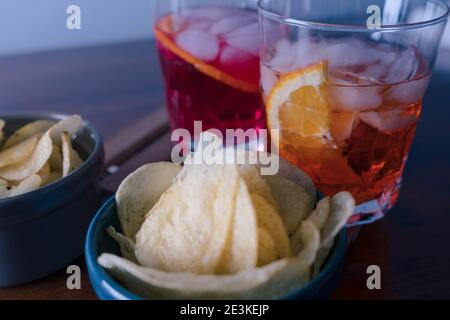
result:
[[[259,92],[259,86],[254,83],[249,83],[240,79],[237,79],[218,68],[209,65],[201,59],[193,56],[189,52],[180,48],[172,39],[170,35],[174,34],[172,27],[172,17],[168,16],[163,18],[154,28],[156,39],[172,53],[193,65],[198,71],[208,75],[209,77],[220,81],[232,88],[242,90],[245,92],[257,93]]]

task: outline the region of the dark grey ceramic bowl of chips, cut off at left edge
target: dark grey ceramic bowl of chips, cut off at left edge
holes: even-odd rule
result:
[[[66,116],[0,114],[0,119],[8,135],[34,120]],[[74,148],[85,160],[82,167],[44,188],[0,199],[0,287],[45,277],[82,255],[89,222],[101,203],[102,137],[85,123]]]

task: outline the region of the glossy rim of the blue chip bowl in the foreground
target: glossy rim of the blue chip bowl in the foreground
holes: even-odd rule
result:
[[[97,249],[94,246],[94,238],[97,234],[98,225],[101,219],[108,213],[109,210],[117,210],[115,195],[108,198],[103,205],[100,207],[98,212],[96,213],[94,219],[89,225],[89,229],[86,236],[85,243],[85,260],[87,264],[87,269],[89,273],[89,278],[91,280],[91,285],[94,287],[94,290],[97,293],[97,296],[100,298],[101,295],[97,292],[98,286],[109,287],[109,294],[111,296],[117,296],[120,299],[126,300],[144,300],[143,297],[129,291],[123,285],[121,285],[116,279],[114,279],[109,272],[106,271],[98,262],[97,258],[100,253],[97,252]],[[100,230],[101,231],[101,230]],[[286,296],[282,297],[282,299],[292,299],[293,296],[298,295],[301,292],[305,292],[311,290],[311,288],[318,286],[322,281],[324,281],[327,277],[329,277],[335,269],[339,266],[340,262],[345,258],[345,252],[347,248],[347,235],[345,228],[339,233],[336,238],[336,241],[333,245],[333,249],[331,250],[331,254],[327,258],[327,263],[322,271],[306,286],[301,289],[292,290]]]

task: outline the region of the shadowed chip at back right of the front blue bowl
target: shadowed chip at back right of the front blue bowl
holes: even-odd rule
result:
[[[280,205],[280,215],[291,236],[313,209],[309,195],[302,187],[283,176],[264,176],[272,195]]]

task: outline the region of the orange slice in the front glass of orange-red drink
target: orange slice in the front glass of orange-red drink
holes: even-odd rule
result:
[[[327,63],[283,75],[267,99],[269,129],[279,129],[275,145],[321,148],[331,140],[326,97]],[[281,139],[281,141],[279,141]]]

